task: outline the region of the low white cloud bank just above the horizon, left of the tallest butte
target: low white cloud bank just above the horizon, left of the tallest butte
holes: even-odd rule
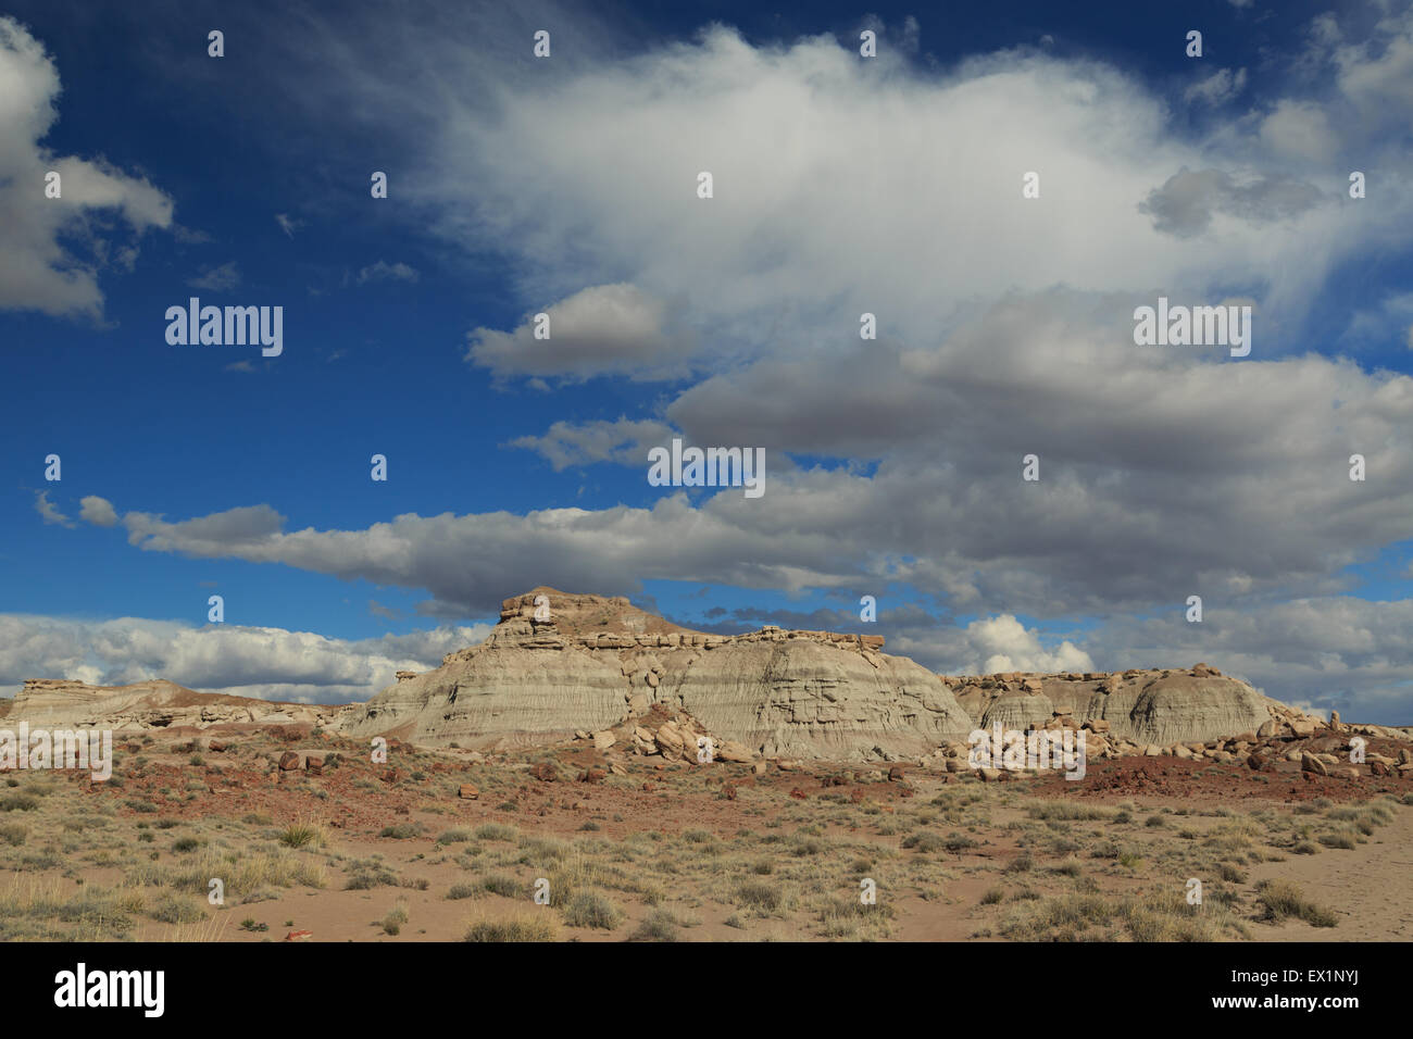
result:
[[[25,679],[122,686],[168,679],[202,693],[295,703],[367,700],[400,670],[425,671],[489,635],[489,625],[444,625],[377,639],[329,639],[283,628],[177,621],[0,614],[0,691]]]

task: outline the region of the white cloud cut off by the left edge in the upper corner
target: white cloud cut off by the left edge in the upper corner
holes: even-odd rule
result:
[[[95,218],[114,213],[140,235],[171,226],[171,199],[102,160],[42,144],[59,117],[59,74],[44,45],[10,17],[0,17],[0,310],[99,318],[99,271],[130,266],[137,253],[107,237]],[[49,172],[59,175],[59,198],[45,195]]]

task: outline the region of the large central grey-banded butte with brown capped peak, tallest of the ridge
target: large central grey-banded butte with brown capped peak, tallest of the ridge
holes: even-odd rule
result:
[[[548,619],[536,619],[547,599]],[[965,738],[971,720],[938,676],[879,636],[678,628],[626,599],[537,588],[506,599],[479,646],[406,677],[338,722],[411,742],[531,742],[602,729],[661,705],[767,755],[913,755]]]

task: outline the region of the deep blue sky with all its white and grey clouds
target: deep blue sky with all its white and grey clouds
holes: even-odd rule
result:
[[[551,585],[1413,724],[1407,3],[6,11],[0,695],[363,700]]]

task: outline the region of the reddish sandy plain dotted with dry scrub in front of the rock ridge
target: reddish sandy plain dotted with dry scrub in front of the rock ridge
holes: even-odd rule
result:
[[[810,762],[756,775],[749,765],[664,765],[582,742],[489,761],[394,745],[390,762],[372,763],[360,745],[307,731],[227,732],[220,752],[172,735],[124,745],[116,785],[7,776],[0,809],[6,796],[34,796],[0,811],[0,833],[25,831],[0,844],[0,937],[93,936],[107,926],[82,915],[66,923],[73,912],[17,895],[38,885],[52,902],[126,895],[131,926],[99,936],[129,940],[278,941],[308,932],[317,941],[455,941],[471,919],[526,913],[554,920],[557,937],[571,941],[644,937],[663,915],[677,922],[673,937],[694,941],[1006,940],[1024,937],[1017,919],[1053,900],[1156,905],[1188,875],[1225,899],[1202,909],[1221,906],[1235,920],[1214,932],[1225,940],[1413,937],[1407,779],[1136,758],[1095,762],[1081,783],[982,783],[914,768],[890,782],[887,766]],[[283,772],[276,763],[291,748],[345,756],[318,775]],[[613,763],[625,775],[609,773]],[[547,768],[552,782],[536,777]],[[459,796],[463,785],[475,799]],[[1375,802],[1388,821],[1355,847],[1291,854],[1297,827],[1327,834],[1345,826],[1337,813]],[[319,840],[283,847],[295,823]],[[220,871],[280,857],[319,871],[322,886],[261,884],[212,908],[199,876],[182,879],[203,854],[226,857]],[[1215,871],[1228,867],[1224,882]],[[386,879],[349,886],[369,869]],[[571,924],[561,903],[537,906],[530,891],[540,876],[602,895],[615,919]],[[876,882],[877,912],[858,912],[863,876]],[[1297,885],[1338,924],[1263,919],[1258,885],[1272,879]],[[747,898],[753,885],[780,903]],[[458,886],[475,891],[451,898]],[[154,919],[171,898],[199,919]],[[406,920],[390,929],[394,910]]]

